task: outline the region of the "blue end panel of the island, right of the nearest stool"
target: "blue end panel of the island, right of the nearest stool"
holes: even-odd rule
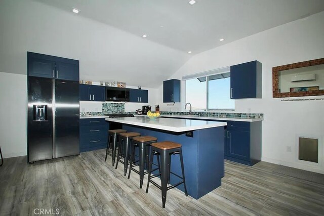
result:
[[[198,198],[221,186],[224,177],[224,126],[198,134]]]

